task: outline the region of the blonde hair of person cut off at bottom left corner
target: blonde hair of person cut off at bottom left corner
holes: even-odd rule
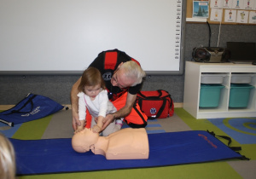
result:
[[[15,166],[15,149],[8,138],[0,133],[0,178],[14,179]]]

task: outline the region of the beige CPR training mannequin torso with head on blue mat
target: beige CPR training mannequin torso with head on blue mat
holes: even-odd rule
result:
[[[78,153],[91,150],[106,159],[148,159],[149,154],[148,135],[144,128],[126,128],[109,136],[99,136],[85,128],[73,136],[72,146]]]

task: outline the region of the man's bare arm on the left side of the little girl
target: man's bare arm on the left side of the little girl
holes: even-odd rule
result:
[[[79,121],[79,84],[80,84],[81,78],[73,84],[72,90],[70,92],[70,101],[72,105],[72,123],[73,123],[73,130],[77,130],[77,126],[81,125]]]

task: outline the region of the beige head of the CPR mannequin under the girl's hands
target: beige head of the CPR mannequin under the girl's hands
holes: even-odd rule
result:
[[[98,138],[98,133],[94,133],[91,129],[85,128],[73,136],[72,147],[78,153],[86,153],[90,151],[90,146],[96,144]]]

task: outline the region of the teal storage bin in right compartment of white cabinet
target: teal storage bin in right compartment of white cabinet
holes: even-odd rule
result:
[[[229,107],[247,107],[253,88],[254,86],[250,84],[231,84]]]

